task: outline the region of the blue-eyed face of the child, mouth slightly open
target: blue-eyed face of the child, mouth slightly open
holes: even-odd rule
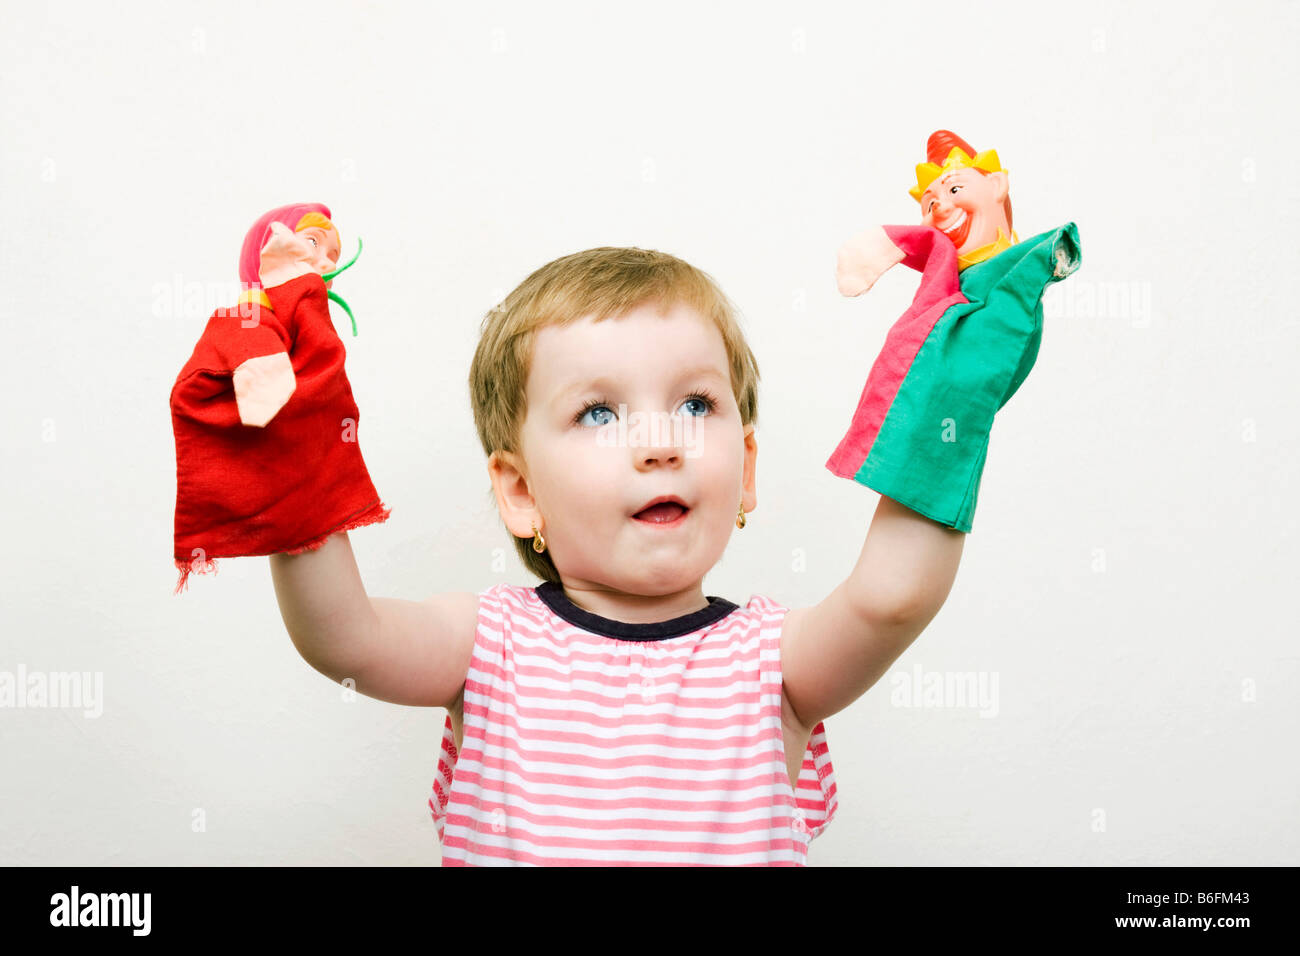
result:
[[[757,444],[729,367],[718,326],[684,304],[538,329],[520,436],[528,486],[506,492],[540,512],[566,585],[671,594],[722,558],[742,490],[746,511],[757,503]],[[646,509],[664,496],[685,509]],[[529,516],[510,529],[530,537]]]

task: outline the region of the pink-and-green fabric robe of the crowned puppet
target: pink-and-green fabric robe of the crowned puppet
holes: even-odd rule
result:
[[[884,229],[922,284],[827,468],[968,532],[993,416],[1034,368],[1043,291],[1079,268],[1079,233],[1067,222],[958,272],[937,229]]]

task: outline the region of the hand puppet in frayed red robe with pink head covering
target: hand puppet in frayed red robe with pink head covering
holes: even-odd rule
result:
[[[176,593],[216,558],[296,554],[389,518],[329,315],[333,299],[351,317],[328,291],[356,260],[337,268],[339,248],[320,203],[259,219],[239,255],[247,291],[212,313],[172,388]]]

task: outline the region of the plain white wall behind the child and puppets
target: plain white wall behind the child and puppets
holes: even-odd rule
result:
[[[325,202],[365,242],[338,290],[394,507],[351,535],[372,594],[536,583],[485,493],[478,320],[555,256],[636,245],[719,280],[763,373],[759,507],[705,591],[798,606],[861,550],[878,497],[824,460],[916,284],[842,299],[835,252],[915,221],[936,127],[998,151],[1022,238],[1078,222],[1083,268],[893,670],[996,675],[997,714],[894,706],[887,676],[832,717],[810,862],[1300,862],[1295,3],[4,20],[0,670],[101,672],[104,709],[0,708],[0,862],[438,861],[445,711],[342,702],[265,558],[172,594],[168,393],[256,216]]]

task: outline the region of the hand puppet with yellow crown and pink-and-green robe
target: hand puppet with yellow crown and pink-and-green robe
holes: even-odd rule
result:
[[[889,267],[922,273],[871,367],[827,468],[968,532],[994,414],[1034,368],[1043,290],[1079,268],[1074,222],[1020,241],[1006,170],[948,130],[931,134],[909,190],[920,225],[875,226],[838,254],[844,295]]]

